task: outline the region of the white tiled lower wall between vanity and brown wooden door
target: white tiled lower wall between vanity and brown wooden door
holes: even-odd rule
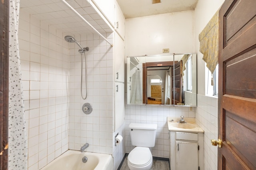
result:
[[[196,123],[204,130],[204,169],[216,170],[218,147],[210,140],[218,139],[218,98],[197,95]]]

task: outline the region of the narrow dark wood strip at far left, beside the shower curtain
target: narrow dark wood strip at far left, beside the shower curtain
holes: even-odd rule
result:
[[[0,3],[0,170],[8,169],[9,1]]]

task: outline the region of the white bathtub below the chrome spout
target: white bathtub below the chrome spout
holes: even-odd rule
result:
[[[86,163],[82,158],[88,158]],[[113,170],[113,158],[110,154],[67,150],[41,170]]]

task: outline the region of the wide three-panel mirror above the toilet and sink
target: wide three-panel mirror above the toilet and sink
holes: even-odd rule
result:
[[[127,104],[196,106],[196,53],[127,57]]]

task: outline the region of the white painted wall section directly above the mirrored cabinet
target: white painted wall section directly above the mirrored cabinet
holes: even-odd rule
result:
[[[194,52],[194,11],[126,19],[126,56]]]

